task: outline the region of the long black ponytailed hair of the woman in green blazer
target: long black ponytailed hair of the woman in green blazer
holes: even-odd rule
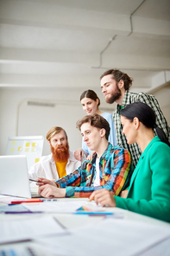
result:
[[[120,114],[121,116],[128,118],[131,122],[133,122],[134,118],[138,118],[146,127],[152,128],[153,130],[155,129],[161,141],[170,146],[165,132],[156,125],[156,116],[154,111],[147,104],[143,102],[129,104],[129,106],[121,109]]]

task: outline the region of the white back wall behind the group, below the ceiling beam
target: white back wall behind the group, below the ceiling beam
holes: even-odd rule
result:
[[[81,135],[75,123],[85,116],[79,102],[83,91],[82,88],[0,88],[0,155],[5,155],[10,136],[43,135],[46,138],[47,131],[55,125],[66,130],[70,149],[77,150],[81,146]],[[101,99],[100,110],[112,112],[114,106],[105,103],[99,85],[95,91]],[[170,125],[170,88],[167,86],[153,94]],[[28,100],[54,103],[55,106],[28,106]],[[43,154],[48,153],[45,139]]]

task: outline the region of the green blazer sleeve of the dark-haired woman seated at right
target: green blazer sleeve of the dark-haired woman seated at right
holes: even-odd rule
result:
[[[135,201],[115,196],[116,207],[170,222],[170,150],[165,145],[160,144],[159,150],[153,150],[149,158],[152,171],[151,199]]]

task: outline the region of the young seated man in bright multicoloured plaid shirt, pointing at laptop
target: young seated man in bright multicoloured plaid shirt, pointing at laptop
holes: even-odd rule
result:
[[[96,153],[79,169],[55,182],[38,178],[39,194],[47,198],[89,197],[94,190],[108,189],[112,195],[120,195],[132,174],[129,151],[108,143],[110,125],[98,114],[85,116],[78,127],[87,146]]]

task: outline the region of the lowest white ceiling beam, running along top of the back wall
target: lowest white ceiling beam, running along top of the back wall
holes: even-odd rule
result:
[[[83,75],[81,73],[74,75],[43,75],[43,74],[0,74],[0,87],[62,87],[62,88],[82,88],[100,90],[100,74]],[[151,84],[150,78],[135,78],[132,91],[146,91]]]

